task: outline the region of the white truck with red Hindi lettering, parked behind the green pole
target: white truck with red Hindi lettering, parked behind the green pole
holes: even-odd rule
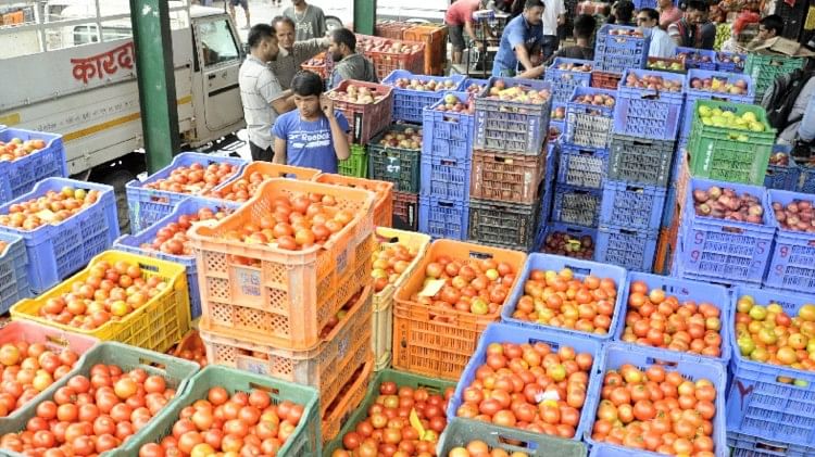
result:
[[[0,125],[62,134],[70,174],[114,186],[126,220],[124,186],[145,168],[129,2],[20,8],[25,22],[0,25]],[[242,46],[221,9],[171,0],[170,16],[181,143],[195,149],[244,126]]]

